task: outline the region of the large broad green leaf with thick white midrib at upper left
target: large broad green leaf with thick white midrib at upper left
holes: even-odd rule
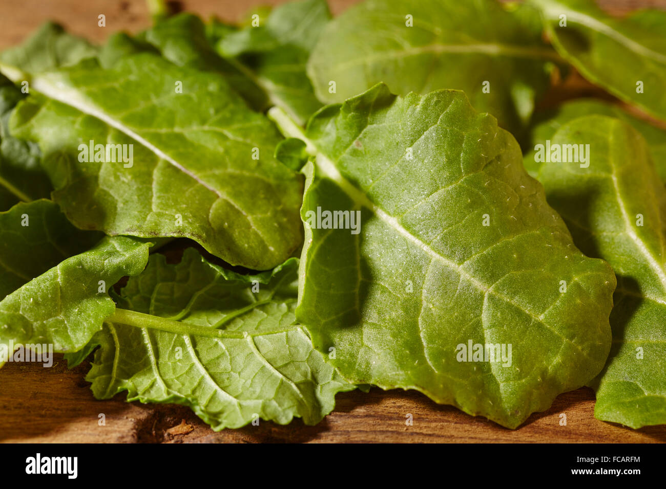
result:
[[[300,244],[302,178],[274,159],[270,121],[219,75],[139,54],[109,70],[87,60],[35,75],[31,86],[40,94],[17,106],[11,130],[39,142],[53,198],[77,227],[192,238],[251,269]],[[133,166],[79,162],[90,140],[132,144]]]

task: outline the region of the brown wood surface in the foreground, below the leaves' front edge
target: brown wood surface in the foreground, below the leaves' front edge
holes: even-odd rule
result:
[[[484,418],[438,406],[414,391],[355,391],[316,426],[300,419],[280,426],[213,432],[187,407],[93,398],[83,380],[87,363],[68,370],[61,355],[51,368],[7,364],[0,371],[0,442],[665,442],[666,428],[631,430],[594,418],[594,393],[563,394],[553,406],[508,430]],[[99,414],[105,425],[99,425]],[[406,424],[412,414],[413,424]],[[567,424],[561,426],[561,414]]]

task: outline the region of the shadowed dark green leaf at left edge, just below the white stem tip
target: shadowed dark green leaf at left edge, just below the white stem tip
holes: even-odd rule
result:
[[[37,144],[9,134],[9,117],[23,97],[21,90],[0,74],[0,211],[51,194],[51,182],[39,164]]]

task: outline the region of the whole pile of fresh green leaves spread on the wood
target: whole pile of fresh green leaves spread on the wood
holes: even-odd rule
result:
[[[5,361],[91,356],[98,399],[214,430],[368,385],[509,428],[589,385],[666,423],[666,132],[635,116],[666,120],[666,12],[151,5],[0,53]],[[576,72],[605,100],[541,108]]]

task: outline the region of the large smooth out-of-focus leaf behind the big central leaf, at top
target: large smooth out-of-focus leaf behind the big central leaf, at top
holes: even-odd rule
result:
[[[324,102],[341,102],[378,82],[403,95],[457,88],[477,110],[519,133],[557,61],[541,41],[537,14],[528,14],[505,11],[496,1],[367,0],[324,29],[308,75]]]

